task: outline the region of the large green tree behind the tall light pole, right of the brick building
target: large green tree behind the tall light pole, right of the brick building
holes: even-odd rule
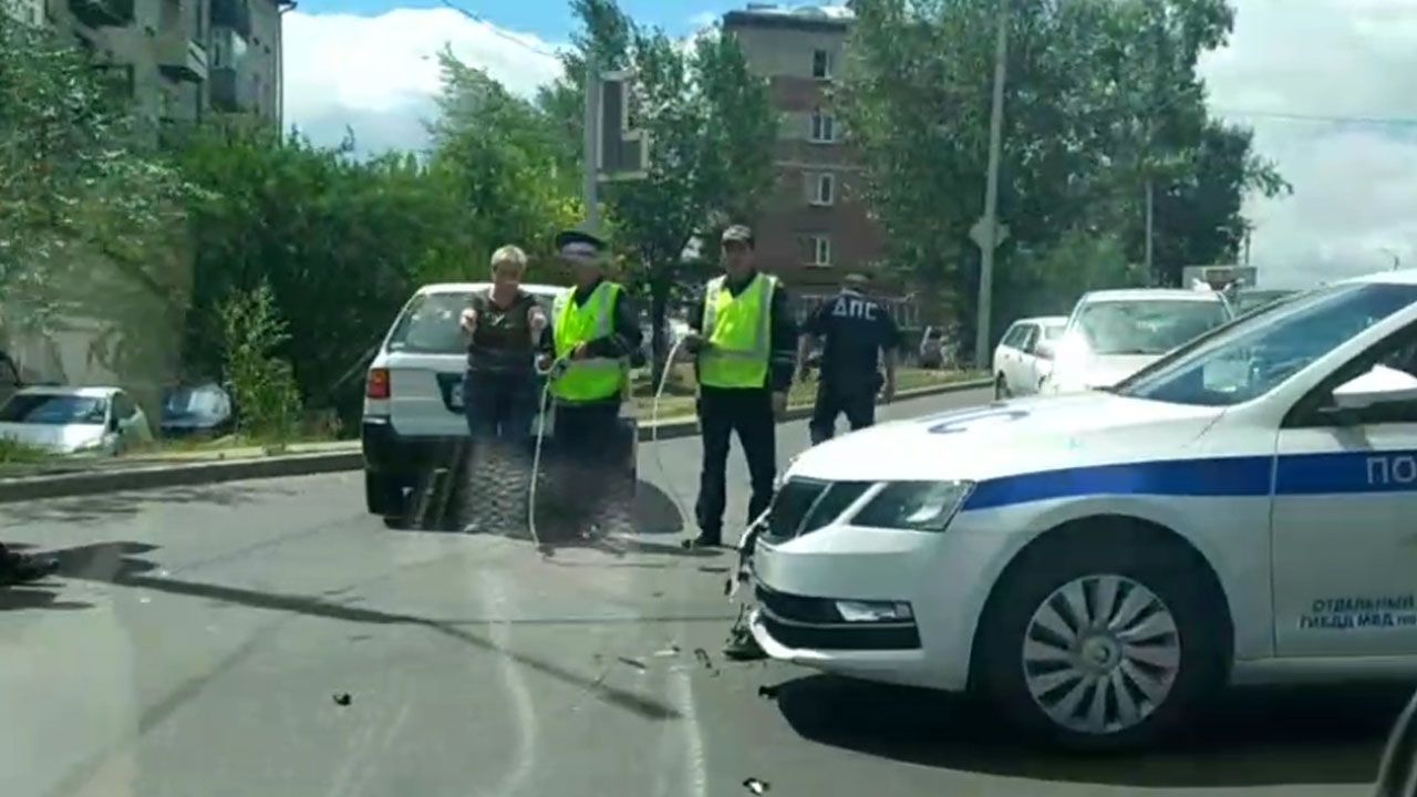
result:
[[[983,210],[998,4],[856,0],[836,96],[891,265],[939,299],[966,345],[979,261],[968,231]],[[1076,262],[1088,238],[1098,251],[1121,247],[1128,261],[1141,260],[1148,183],[1163,265],[1119,278],[1166,281],[1180,258],[1233,251],[1244,193],[1282,190],[1247,130],[1206,115],[1196,61],[1224,43],[1233,18],[1226,0],[1010,6],[999,193],[1010,237],[999,250],[1000,285],[1029,292],[1033,279],[1076,295],[1093,272],[1037,269]],[[1060,257],[1050,257],[1056,247]],[[1010,316],[995,318],[998,335]]]

